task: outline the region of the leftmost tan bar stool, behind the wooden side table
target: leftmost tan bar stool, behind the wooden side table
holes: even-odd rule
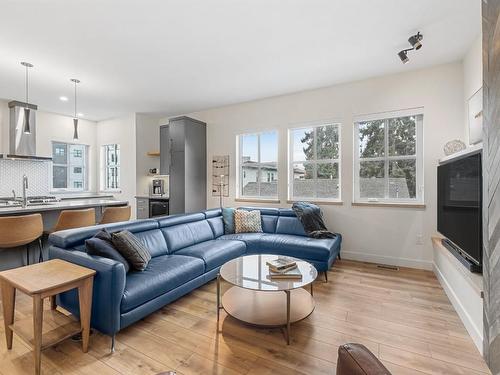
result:
[[[38,261],[43,261],[42,234],[40,214],[0,217],[0,248],[26,246],[26,265],[30,260],[29,245],[36,240],[40,250]]]

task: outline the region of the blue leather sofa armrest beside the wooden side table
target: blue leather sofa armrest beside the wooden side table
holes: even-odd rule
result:
[[[125,289],[125,267],[120,262],[82,251],[49,248],[50,259],[62,259],[70,263],[91,268],[96,272],[92,294],[91,326],[98,331],[114,335],[120,330],[120,304]],[[57,303],[79,316],[78,291],[76,289],[59,294]]]

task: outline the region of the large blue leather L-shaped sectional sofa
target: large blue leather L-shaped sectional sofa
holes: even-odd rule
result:
[[[340,255],[342,237],[313,239],[291,209],[259,209],[263,233],[224,234],[220,209],[158,219],[96,225],[50,235],[49,257],[97,271],[91,325],[114,338],[116,332],[217,276],[220,266],[245,254],[282,254],[327,271]],[[125,273],[123,264],[85,252],[85,240],[100,229],[129,230],[149,249],[146,270]],[[60,294],[58,305],[78,314],[76,291]],[[114,341],[114,340],[113,340]]]

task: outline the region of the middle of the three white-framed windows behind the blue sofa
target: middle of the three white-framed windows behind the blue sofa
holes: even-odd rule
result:
[[[340,200],[340,124],[289,130],[291,200]]]

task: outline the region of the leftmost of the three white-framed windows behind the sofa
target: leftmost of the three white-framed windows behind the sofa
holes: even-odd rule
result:
[[[239,197],[278,197],[278,132],[238,137]]]

